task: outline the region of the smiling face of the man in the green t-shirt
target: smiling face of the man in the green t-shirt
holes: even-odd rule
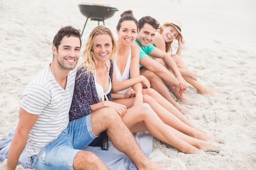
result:
[[[156,31],[157,30],[154,29],[153,26],[145,23],[144,26],[139,30],[139,33],[137,35],[137,41],[141,46],[148,46],[150,42],[153,41]]]

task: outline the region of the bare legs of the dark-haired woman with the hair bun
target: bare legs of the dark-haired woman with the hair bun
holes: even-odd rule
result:
[[[183,116],[182,120],[186,121],[191,126],[189,126],[188,124],[186,124],[183,121],[181,121],[180,119],[178,119],[175,115],[173,115],[171,112],[166,110],[166,108],[164,108],[162,105],[160,105],[158,102],[156,102],[155,99],[153,99],[153,97],[150,97],[149,95],[143,95],[143,101],[144,101],[144,103],[149,104],[151,106],[151,108],[155,111],[155,113],[157,113],[158,117],[168,126],[171,126],[175,129],[179,130],[180,132],[185,133],[186,135],[189,135],[191,137],[194,137],[194,138],[197,138],[197,139],[200,139],[203,141],[219,142],[219,139],[217,139],[216,137],[213,137],[209,134],[201,132],[200,130],[198,130],[196,128],[193,128],[192,126],[194,126],[194,125],[186,117],[184,117],[184,115],[182,115],[181,113],[180,113],[181,116],[177,114],[178,117]],[[127,108],[131,108],[132,103],[133,103],[133,97],[128,98],[128,99],[116,99],[116,100],[113,100],[113,102],[117,102],[119,104],[126,105]]]

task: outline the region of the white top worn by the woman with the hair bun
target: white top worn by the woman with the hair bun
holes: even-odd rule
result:
[[[128,59],[127,59],[127,62],[126,62],[126,66],[124,68],[124,73],[123,75],[121,75],[119,69],[118,69],[118,66],[117,66],[117,61],[115,60],[115,63],[114,63],[114,69],[115,69],[115,73],[116,73],[116,77],[117,77],[117,82],[121,82],[121,81],[124,81],[124,80],[127,80],[130,78],[130,65],[131,65],[131,50],[129,52],[129,55],[128,55]],[[121,94],[125,94],[127,93],[132,87],[129,87],[129,88],[126,88],[122,91],[119,91],[117,93],[121,93]]]

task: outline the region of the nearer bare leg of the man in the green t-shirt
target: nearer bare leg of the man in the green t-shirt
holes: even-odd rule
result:
[[[194,119],[198,118],[198,115],[195,115],[189,109],[184,108],[173,99],[163,80],[158,75],[152,71],[147,70],[146,68],[141,69],[140,74],[144,75],[148,79],[151,88],[162,95],[166,100],[168,100],[168,102],[173,104],[173,106],[175,106],[175,108],[177,108],[183,115],[191,115]]]

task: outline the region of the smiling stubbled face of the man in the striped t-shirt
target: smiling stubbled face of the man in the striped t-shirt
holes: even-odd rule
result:
[[[79,38],[64,36],[58,50],[55,46],[52,47],[54,53],[54,61],[58,63],[58,68],[61,70],[73,70],[80,57],[81,43]]]

